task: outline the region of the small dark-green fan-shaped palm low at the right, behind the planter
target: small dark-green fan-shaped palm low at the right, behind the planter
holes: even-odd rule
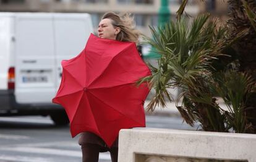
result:
[[[215,90],[228,106],[228,124],[236,132],[245,132],[244,108],[256,83],[248,74],[236,71],[222,72],[216,78]]]

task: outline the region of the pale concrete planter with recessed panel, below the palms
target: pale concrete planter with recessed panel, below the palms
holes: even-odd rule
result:
[[[256,162],[256,135],[172,129],[123,129],[119,162]]]

